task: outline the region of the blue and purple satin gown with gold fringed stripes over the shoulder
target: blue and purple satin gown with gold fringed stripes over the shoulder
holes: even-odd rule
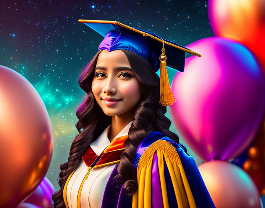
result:
[[[138,190],[126,197],[122,186],[116,183],[116,164],[106,186],[102,184],[105,188],[101,208],[215,207],[193,157],[182,144],[161,132],[153,131],[143,139],[133,165],[137,170]]]

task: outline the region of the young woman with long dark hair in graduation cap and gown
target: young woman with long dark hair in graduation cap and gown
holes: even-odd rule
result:
[[[215,207],[194,159],[168,130],[155,39],[114,21],[89,21],[106,37],[78,80],[86,98],[54,208]],[[181,71],[179,52],[182,61],[169,63]]]

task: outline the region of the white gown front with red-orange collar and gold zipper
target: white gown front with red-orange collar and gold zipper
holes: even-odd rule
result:
[[[132,121],[117,134],[111,143],[108,139],[109,125],[90,144],[82,156],[80,165],[70,174],[64,185],[63,196],[67,208],[101,207],[107,181],[115,165],[119,162],[131,124]],[[104,152],[103,155],[102,152]],[[102,156],[100,157],[100,155]],[[97,159],[98,157],[100,157],[100,160]],[[88,167],[91,167],[91,165],[93,168],[91,168],[86,178]]]

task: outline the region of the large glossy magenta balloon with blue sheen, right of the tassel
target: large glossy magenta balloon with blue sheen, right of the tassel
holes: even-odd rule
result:
[[[172,81],[170,114],[180,136],[203,161],[240,155],[261,126],[265,81],[261,64],[244,45],[209,37],[187,46],[202,57],[185,60]]]

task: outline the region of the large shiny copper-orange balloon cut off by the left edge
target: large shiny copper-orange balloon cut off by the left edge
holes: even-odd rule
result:
[[[35,88],[0,65],[0,207],[16,207],[41,183],[51,162],[49,116]]]

